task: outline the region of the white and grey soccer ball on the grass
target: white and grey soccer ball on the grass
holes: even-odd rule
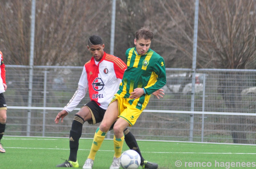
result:
[[[124,151],[120,164],[124,169],[137,169],[140,166],[140,155],[134,150]]]

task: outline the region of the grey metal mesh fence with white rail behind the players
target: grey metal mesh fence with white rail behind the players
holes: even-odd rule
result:
[[[82,67],[33,67],[28,107],[29,67],[7,65],[5,135],[69,137],[88,94],[63,123],[54,119],[76,91],[81,73]],[[130,128],[137,139],[255,144],[256,70],[196,69],[194,85],[191,69],[166,68],[166,77],[164,98],[152,95]],[[98,126],[84,123],[82,137],[93,138]]]

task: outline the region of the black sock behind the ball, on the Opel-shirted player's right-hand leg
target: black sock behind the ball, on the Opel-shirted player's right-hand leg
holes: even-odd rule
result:
[[[141,163],[140,164],[142,164],[145,159],[141,155],[140,148],[137,144],[137,141],[136,141],[135,137],[133,136],[133,134],[131,133],[131,131],[127,127],[124,129],[124,140],[125,140],[125,143],[128,145],[128,147],[131,150],[135,150],[139,153],[140,158],[141,158]]]

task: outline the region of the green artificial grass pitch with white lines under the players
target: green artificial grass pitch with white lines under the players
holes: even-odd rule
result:
[[[1,142],[6,153],[0,153],[0,168],[57,168],[56,165],[69,156],[68,138],[5,136]],[[138,144],[143,157],[158,163],[159,169],[255,168],[256,164],[256,145],[161,141],[138,141]],[[77,154],[79,168],[83,167],[91,145],[92,139],[80,139]],[[112,139],[104,140],[97,152],[93,168],[109,168],[114,155],[113,146]],[[125,150],[128,147],[124,143],[123,151]],[[180,164],[177,160],[182,163],[180,167],[176,166]],[[235,167],[239,164],[240,167]]]

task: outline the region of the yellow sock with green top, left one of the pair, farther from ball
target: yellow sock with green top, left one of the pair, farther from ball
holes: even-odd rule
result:
[[[98,129],[96,130],[96,132],[94,134],[91,151],[90,151],[88,158],[90,158],[92,160],[95,159],[96,152],[100,149],[100,146],[105,138],[105,135],[106,135],[106,133],[102,132],[100,130],[100,128],[98,127]]]

